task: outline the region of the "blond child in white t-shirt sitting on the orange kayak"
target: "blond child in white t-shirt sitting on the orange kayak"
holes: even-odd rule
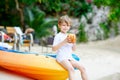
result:
[[[82,80],[88,80],[84,67],[71,56],[75,50],[75,43],[71,43],[71,39],[67,37],[67,32],[71,26],[70,18],[65,15],[59,18],[58,27],[60,32],[55,36],[53,42],[53,51],[57,51],[56,60],[69,72],[69,80],[75,80],[74,68],[78,68],[81,72]]]

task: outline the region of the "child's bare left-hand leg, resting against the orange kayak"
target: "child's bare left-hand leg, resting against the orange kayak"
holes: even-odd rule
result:
[[[70,61],[68,60],[63,60],[60,62],[60,64],[69,72],[69,80],[74,80],[74,76],[75,76],[75,71],[73,66],[71,65]]]

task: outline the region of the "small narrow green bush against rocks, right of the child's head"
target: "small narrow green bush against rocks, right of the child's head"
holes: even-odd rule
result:
[[[87,42],[88,41],[84,27],[85,26],[83,24],[80,24],[80,26],[79,26],[78,42]]]

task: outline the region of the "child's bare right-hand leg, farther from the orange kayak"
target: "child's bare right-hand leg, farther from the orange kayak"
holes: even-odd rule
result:
[[[85,68],[78,61],[71,60],[70,62],[73,65],[73,67],[79,69],[79,71],[81,72],[82,80],[88,80]]]

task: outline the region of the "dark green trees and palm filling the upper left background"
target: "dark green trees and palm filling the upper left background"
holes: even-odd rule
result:
[[[20,26],[23,31],[29,26],[38,37],[51,34],[49,29],[61,15],[80,18],[91,11],[85,0],[4,0],[0,7],[0,25]]]

